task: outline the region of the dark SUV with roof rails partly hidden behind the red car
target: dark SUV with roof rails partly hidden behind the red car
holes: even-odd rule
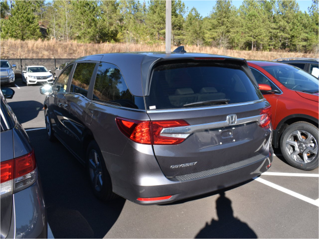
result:
[[[272,61],[293,65],[317,78],[319,76],[318,58],[279,58]]]

